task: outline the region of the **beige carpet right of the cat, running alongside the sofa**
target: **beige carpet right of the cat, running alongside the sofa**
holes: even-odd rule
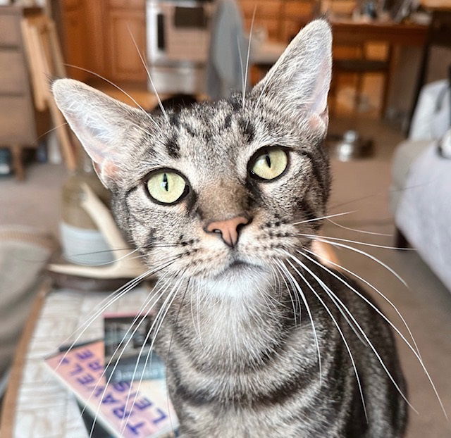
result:
[[[334,120],[330,130],[340,132],[349,123]],[[362,134],[375,140],[376,156],[350,163],[332,162],[334,184],[330,213],[356,210],[355,213],[336,218],[335,222],[354,229],[393,234],[393,219],[388,208],[390,156],[400,136],[390,127],[375,121],[360,120],[358,127]],[[322,234],[385,246],[393,246],[394,243],[393,237],[352,232],[331,223],[323,228]],[[451,292],[445,289],[415,251],[354,246],[389,265],[409,285],[407,289],[388,270],[362,254],[346,249],[337,251],[343,266],[377,287],[402,313],[414,334],[445,409],[451,415]],[[376,292],[373,296],[385,315],[407,336],[407,330],[393,308]],[[440,405],[419,362],[400,337],[397,340],[409,385],[409,401],[419,412],[416,415],[410,411],[407,437],[450,437],[451,425],[440,411]]]

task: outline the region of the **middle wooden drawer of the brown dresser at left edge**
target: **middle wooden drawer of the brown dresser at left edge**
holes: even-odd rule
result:
[[[22,54],[0,47],[0,65],[0,95],[23,94],[27,87],[27,74]]]

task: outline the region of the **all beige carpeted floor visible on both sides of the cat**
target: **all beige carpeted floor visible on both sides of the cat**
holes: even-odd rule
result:
[[[350,120],[333,120],[332,132],[355,127]],[[333,194],[330,213],[357,210],[337,218],[337,222],[372,232],[393,233],[393,220],[388,210],[390,156],[402,137],[390,127],[374,120],[358,120],[362,134],[373,137],[376,155],[373,158],[340,163],[333,161]],[[55,165],[33,165],[27,169],[27,180],[17,183],[0,180],[0,224],[32,225],[42,230],[57,232],[59,196],[64,170]],[[373,244],[390,245],[393,238],[373,236],[343,230],[329,223],[324,236],[362,240]],[[373,283],[393,301],[409,323],[419,345],[424,363],[451,415],[451,293],[431,273],[414,251],[394,251],[371,246],[356,246],[390,265],[410,288],[404,287],[392,274],[369,258],[352,251],[338,251],[340,263]],[[380,297],[376,297],[393,323],[402,329],[395,311]],[[451,426],[440,411],[431,385],[421,371],[418,361],[400,344],[402,364],[409,383],[409,399],[419,411],[411,411],[408,438],[445,438],[451,436]]]

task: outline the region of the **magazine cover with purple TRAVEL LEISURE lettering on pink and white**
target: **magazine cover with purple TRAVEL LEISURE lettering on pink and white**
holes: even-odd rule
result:
[[[167,437],[178,427],[164,379],[143,381],[139,389],[139,382],[106,386],[103,341],[58,353],[46,363],[115,437]]]

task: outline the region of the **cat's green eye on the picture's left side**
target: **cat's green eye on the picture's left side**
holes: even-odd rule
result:
[[[187,183],[178,173],[161,170],[153,173],[147,180],[147,190],[156,202],[173,204],[187,194]]]

